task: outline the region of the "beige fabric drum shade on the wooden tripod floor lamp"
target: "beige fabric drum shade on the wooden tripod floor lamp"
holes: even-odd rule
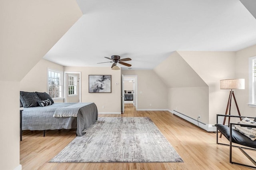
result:
[[[220,89],[244,89],[244,79],[220,80]]]

